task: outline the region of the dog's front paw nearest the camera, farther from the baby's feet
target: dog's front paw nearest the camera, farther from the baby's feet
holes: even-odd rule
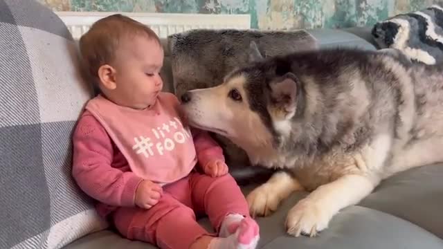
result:
[[[288,212],[287,232],[295,237],[300,234],[314,237],[317,232],[327,228],[330,219],[327,207],[320,207],[314,201],[303,199]]]

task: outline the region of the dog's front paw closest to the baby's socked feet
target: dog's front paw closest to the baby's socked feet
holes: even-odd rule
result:
[[[268,216],[278,208],[282,199],[273,191],[271,184],[264,183],[249,193],[246,201],[248,201],[251,216]]]

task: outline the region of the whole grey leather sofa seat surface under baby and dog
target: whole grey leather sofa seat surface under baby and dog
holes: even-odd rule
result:
[[[437,249],[443,248],[443,164],[411,169],[393,176],[359,205],[341,210],[329,228],[315,238],[290,237],[284,229],[288,210],[307,192],[298,192],[268,217],[258,217],[260,243],[266,249]],[[245,194],[255,185],[242,190]],[[208,230],[208,219],[201,219]],[[98,232],[67,248],[155,248],[146,243],[121,239],[113,232]]]

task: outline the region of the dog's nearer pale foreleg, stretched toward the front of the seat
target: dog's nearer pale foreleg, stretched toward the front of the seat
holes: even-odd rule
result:
[[[375,183],[360,175],[345,175],[336,181],[321,185],[299,201],[287,216],[287,232],[293,236],[309,234],[327,228],[339,210],[354,205],[374,190]]]

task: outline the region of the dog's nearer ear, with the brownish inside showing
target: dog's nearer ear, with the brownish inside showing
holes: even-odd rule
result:
[[[291,118],[296,111],[299,80],[293,73],[286,73],[269,82],[271,105],[282,113],[284,118]]]

